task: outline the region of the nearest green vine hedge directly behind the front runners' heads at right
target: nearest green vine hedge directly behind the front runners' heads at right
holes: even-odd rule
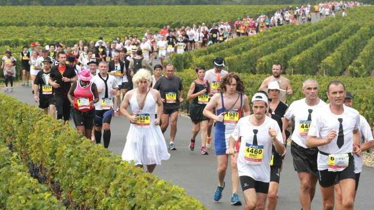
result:
[[[196,73],[192,69],[184,70],[183,72],[177,73],[179,76],[183,75],[183,86],[189,87],[196,79]],[[239,73],[239,77],[242,79],[245,87],[245,94],[248,97],[252,97],[254,93],[260,88],[262,81],[268,77],[268,74],[247,74]],[[290,105],[293,101],[304,98],[304,94],[301,92],[302,82],[307,78],[317,80],[319,86],[318,96],[327,103],[327,85],[333,81],[338,80],[344,83],[346,89],[355,95],[354,108],[357,109],[361,115],[363,115],[370,124],[374,123],[374,78],[353,78],[353,77],[335,77],[335,76],[316,76],[316,75],[285,75],[290,81],[294,91],[294,94],[287,97],[287,104]],[[185,93],[187,94],[187,93]],[[186,98],[186,96],[185,96]]]

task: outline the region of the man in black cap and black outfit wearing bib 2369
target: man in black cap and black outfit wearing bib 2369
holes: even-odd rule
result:
[[[39,108],[46,114],[56,118],[56,106],[53,98],[53,88],[49,84],[49,75],[51,73],[52,60],[46,58],[43,60],[44,70],[39,71],[34,81],[34,100],[39,102]]]

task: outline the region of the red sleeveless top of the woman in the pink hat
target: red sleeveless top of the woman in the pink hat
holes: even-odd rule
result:
[[[76,88],[74,90],[74,108],[81,112],[87,112],[94,108],[90,105],[93,101],[92,82],[86,87],[80,86],[80,81],[76,82]]]

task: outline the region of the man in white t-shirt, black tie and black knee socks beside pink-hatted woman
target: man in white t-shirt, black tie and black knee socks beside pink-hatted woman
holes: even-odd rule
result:
[[[96,143],[101,143],[101,131],[104,129],[104,147],[108,148],[111,141],[111,121],[113,111],[113,96],[118,90],[117,80],[108,74],[106,62],[99,63],[100,72],[96,74],[92,82],[96,84],[100,103],[95,104],[94,136]]]

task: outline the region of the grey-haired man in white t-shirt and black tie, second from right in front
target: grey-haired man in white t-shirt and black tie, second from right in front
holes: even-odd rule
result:
[[[305,144],[306,136],[312,122],[312,115],[316,109],[326,105],[318,98],[318,83],[307,79],[302,84],[302,93],[305,98],[294,101],[283,118],[283,130],[286,130],[291,120],[295,122],[292,134],[291,155],[294,169],[298,172],[300,180],[299,200],[303,210],[310,210],[318,179],[317,155],[318,148],[308,148]]]

